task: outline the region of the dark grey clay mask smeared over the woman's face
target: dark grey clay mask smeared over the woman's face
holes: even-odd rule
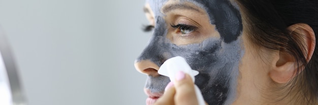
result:
[[[166,60],[181,56],[186,59],[192,69],[200,72],[195,77],[195,83],[202,91],[205,101],[209,104],[231,104],[236,95],[237,76],[239,75],[238,65],[244,54],[240,37],[242,32],[241,16],[237,6],[224,0],[173,2],[147,0],[147,3],[154,14],[155,28],[148,46],[136,60],[136,63],[149,61],[160,67]],[[207,22],[196,22],[194,19],[194,23],[198,23],[198,26],[201,27],[197,28],[196,31],[199,32],[195,33],[196,31],[194,31],[193,35],[198,37],[203,31],[210,30],[206,27],[202,28],[203,25],[201,25],[201,23],[210,23],[210,25],[215,25],[215,28],[211,30],[216,30],[220,37],[206,37],[203,41],[184,45],[173,43],[167,35],[173,34],[174,31],[169,31],[169,29],[181,30],[182,27],[171,28],[169,25],[170,22],[177,19],[174,19],[174,16],[166,18],[170,14],[162,13],[162,8],[167,4],[181,6],[178,7],[179,10],[182,8],[184,11],[189,11],[189,9],[204,11],[209,19],[207,19]],[[173,11],[178,8],[170,9]],[[182,14],[182,12],[178,16],[190,18],[187,17],[188,14]],[[149,66],[148,68],[152,67]],[[143,69],[148,70],[147,68]],[[147,99],[148,104],[155,101],[151,97],[158,97],[160,96],[158,94],[164,92],[168,82],[170,82],[169,78],[162,75],[148,76],[145,86],[145,91],[150,97]]]

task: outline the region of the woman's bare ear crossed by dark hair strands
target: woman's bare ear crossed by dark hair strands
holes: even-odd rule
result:
[[[291,31],[290,34],[297,33],[297,35],[302,35],[300,36],[300,40],[304,46],[303,53],[306,61],[309,62],[316,43],[312,28],[307,24],[297,23],[289,26],[288,29]],[[302,72],[304,66],[299,67],[292,55],[279,51],[279,53],[274,54],[272,70],[269,72],[269,75],[277,83],[287,83],[297,75],[297,69],[301,69],[300,72]]]

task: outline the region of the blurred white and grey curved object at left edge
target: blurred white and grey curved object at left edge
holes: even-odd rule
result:
[[[0,105],[25,105],[11,49],[0,27]]]

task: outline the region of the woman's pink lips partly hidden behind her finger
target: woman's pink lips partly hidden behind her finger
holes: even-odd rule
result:
[[[148,98],[146,99],[146,104],[151,105],[155,101],[157,101],[158,98],[160,98],[163,93],[156,92],[156,93],[151,93],[151,91],[147,88],[144,88],[145,93],[148,95]]]

